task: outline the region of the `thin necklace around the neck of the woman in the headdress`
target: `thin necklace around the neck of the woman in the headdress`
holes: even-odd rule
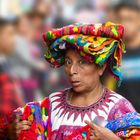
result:
[[[96,101],[94,101],[94,103],[96,103],[101,97],[102,97],[102,95],[103,95],[103,93],[104,93],[104,87],[103,87],[103,85],[101,85],[102,86],[102,90],[101,90],[101,92],[100,92],[100,96],[96,99]],[[70,89],[70,90],[72,90],[72,89]],[[68,101],[68,103],[70,104],[70,105],[73,105],[72,103],[71,103],[71,100],[72,100],[72,97],[73,97],[73,93],[71,93],[70,94],[71,96],[69,96],[69,99],[67,98],[67,101]],[[68,97],[68,96],[67,96]],[[91,104],[89,104],[89,105],[87,105],[87,106],[90,106],[90,105],[92,105],[93,103],[91,103]],[[82,105],[80,105],[79,107],[85,107],[85,106],[82,106]]]

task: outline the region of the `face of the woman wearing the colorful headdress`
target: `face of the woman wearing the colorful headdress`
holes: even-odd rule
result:
[[[100,68],[90,63],[73,49],[66,52],[64,67],[75,92],[92,91],[100,84],[100,76],[105,69],[105,66]]]

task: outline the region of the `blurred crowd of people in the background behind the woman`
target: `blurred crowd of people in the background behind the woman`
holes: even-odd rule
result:
[[[0,114],[68,87],[63,68],[44,60],[42,33],[75,22],[125,27],[123,81],[105,84],[140,112],[140,0],[0,0]]]

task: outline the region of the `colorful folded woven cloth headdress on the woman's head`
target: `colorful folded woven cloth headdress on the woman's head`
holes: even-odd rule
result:
[[[54,67],[64,64],[65,50],[74,47],[81,56],[102,66],[107,62],[111,73],[121,81],[120,65],[124,43],[120,24],[73,24],[43,34],[48,50],[45,59]],[[68,45],[72,44],[72,45]]]

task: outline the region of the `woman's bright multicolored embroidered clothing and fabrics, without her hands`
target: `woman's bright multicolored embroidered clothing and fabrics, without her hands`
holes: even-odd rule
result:
[[[22,115],[22,120],[32,122],[31,128],[22,131],[18,140],[89,140],[90,128],[84,121],[92,121],[97,116],[104,117],[109,122],[105,127],[121,138],[139,136],[140,115],[121,95],[104,88],[96,103],[78,107],[68,102],[69,90],[53,93],[41,102],[28,103],[17,109],[16,113]],[[122,131],[121,128],[125,129]]]

